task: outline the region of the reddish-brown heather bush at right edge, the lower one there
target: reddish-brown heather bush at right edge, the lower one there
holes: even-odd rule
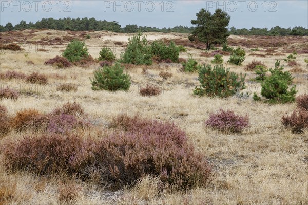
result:
[[[291,129],[292,133],[303,133],[303,129],[308,127],[308,110],[297,108],[290,116],[284,114],[281,121],[286,128]]]

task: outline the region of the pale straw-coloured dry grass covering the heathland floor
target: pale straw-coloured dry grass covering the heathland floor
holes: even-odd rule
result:
[[[14,38],[30,35],[30,30],[23,32],[14,31]],[[40,41],[41,38],[59,35],[61,39],[68,35],[66,31],[58,34],[54,31],[35,31],[29,36],[30,41]],[[112,33],[100,32],[102,36]],[[9,40],[10,36],[3,34],[4,39]],[[92,36],[92,34],[91,34]],[[35,39],[36,38],[36,39]],[[251,40],[254,37],[249,37]],[[305,38],[305,37],[303,37]],[[303,38],[274,39],[286,47],[293,42],[305,42]],[[248,39],[249,40],[249,39]],[[259,40],[259,39],[257,39]],[[273,39],[260,41],[259,44],[271,47]],[[85,40],[89,47],[89,53],[97,58],[103,42],[100,39]],[[117,41],[115,41],[117,42]],[[253,41],[252,41],[253,42]],[[112,43],[112,42],[111,42]],[[184,42],[186,43],[186,42]],[[188,43],[188,42],[187,42]],[[236,42],[234,42],[236,43]],[[249,42],[248,42],[249,43]],[[247,39],[241,40],[238,44],[248,44]],[[275,43],[275,42],[273,42]],[[286,44],[285,44],[286,43]],[[251,43],[249,46],[253,46]],[[114,45],[112,43],[112,45]],[[119,46],[120,48],[121,46]],[[33,45],[34,48],[34,45]],[[118,48],[118,47],[117,47]],[[121,191],[108,191],[99,187],[91,181],[78,183],[78,197],[74,199],[76,204],[308,204],[308,131],[303,134],[293,134],[285,129],[280,122],[284,113],[291,113],[295,109],[294,104],[268,105],[254,102],[251,98],[239,99],[232,97],[228,100],[196,98],[192,90],[199,85],[197,73],[180,72],[180,64],[172,64],[168,72],[172,76],[163,80],[159,73],[164,68],[154,69],[155,66],[147,67],[146,74],[142,73],[142,66],[128,69],[132,77],[132,85],[129,91],[105,92],[92,91],[89,77],[92,77],[97,65],[90,65],[86,68],[72,66],[68,69],[55,70],[51,66],[45,66],[44,62],[56,55],[60,55],[59,46],[50,52],[36,52],[32,49],[26,56],[24,52],[12,52],[2,50],[0,56],[1,72],[21,71],[25,74],[38,72],[48,76],[48,85],[27,84],[16,79],[4,79],[3,84],[9,84],[11,88],[20,89],[22,95],[17,100],[2,99],[1,105],[8,110],[8,116],[13,117],[17,111],[33,109],[41,113],[49,113],[54,107],[68,101],[78,101],[91,118],[95,119],[97,128],[88,132],[93,138],[100,138],[102,132],[109,132],[105,126],[112,116],[126,113],[129,116],[140,114],[143,117],[158,119],[162,121],[173,121],[186,133],[197,150],[208,156],[213,164],[216,179],[207,187],[195,188],[186,193],[169,192],[168,190],[156,191],[156,180],[144,179],[139,187],[128,188],[124,194]],[[249,50],[248,48],[245,48]],[[288,49],[288,47],[287,47]],[[115,49],[119,58],[121,49]],[[284,52],[282,47],[275,50]],[[199,63],[209,63],[206,58],[200,57],[201,50],[190,47],[187,53],[181,53],[181,58],[187,59],[188,53],[194,55]],[[244,72],[245,66],[254,59],[261,60],[268,68],[273,68],[276,59],[283,56],[273,55],[251,56],[246,52],[246,59],[241,66],[233,66],[224,63],[225,67],[240,73]],[[228,57],[223,57],[224,62]],[[298,54],[297,61],[303,62],[307,54]],[[31,60],[33,64],[28,64]],[[283,62],[282,62],[283,64]],[[291,69],[285,66],[286,70]],[[296,88],[299,90],[297,96],[307,93],[308,69],[293,73]],[[166,70],[163,70],[166,71]],[[246,72],[253,77],[252,71]],[[63,78],[62,78],[63,77]],[[75,92],[61,92],[56,86],[63,83],[78,85]],[[144,98],[139,95],[139,87],[146,84],[160,86],[162,92],[159,96]],[[248,82],[247,90],[255,91],[260,95],[261,86],[259,83]],[[27,93],[27,95],[26,95]],[[28,95],[29,94],[29,95]],[[115,103],[116,102],[116,103]],[[248,114],[251,127],[245,129],[242,134],[226,134],[217,132],[214,129],[204,127],[203,122],[209,118],[210,113],[219,108],[235,110],[239,115]],[[99,131],[98,131],[99,130]],[[14,139],[21,139],[25,132],[7,134],[1,138],[0,147]],[[33,131],[31,131],[33,132]],[[0,151],[0,157],[2,153]],[[2,160],[2,158],[0,158]],[[65,178],[63,176],[62,178]],[[61,179],[62,180],[62,179]],[[70,179],[72,180],[72,179]],[[148,181],[147,181],[148,180]],[[56,177],[47,179],[29,176],[23,172],[7,173],[0,168],[0,194],[1,199],[9,204],[57,204],[59,203],[60,184]],[[41,182],[43,181],[43,182]],[[150,181],[150,182],[149,182]],[[8,198],[8,199],[7,199]]]

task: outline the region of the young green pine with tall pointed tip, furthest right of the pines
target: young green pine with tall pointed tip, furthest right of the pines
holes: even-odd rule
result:
[[[270,68],[269,77],[264,76],[261,83],[261,95],[267,99],[269,103],[290,103],[295,101],[296,85],[288,90],[288,86],[292,84],[294,79],[288,71],[282,71],[283,67],[280,66],[280,61],[276,61],[275,69]],[[255,94],[255,100],[260,98]]]

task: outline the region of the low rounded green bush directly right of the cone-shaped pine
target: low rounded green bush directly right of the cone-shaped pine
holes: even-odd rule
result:
[[[160,60],[171,59],[177,62],[179,59],[180,49],[174,42],[170,42],[167,46],[163,41],[154,41],[151,45],[152,54],[160,58]]]

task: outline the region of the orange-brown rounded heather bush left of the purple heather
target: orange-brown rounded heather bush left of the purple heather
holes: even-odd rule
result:
[[[35,109],[25,109],[18,111],[12,118],[11,125],[17,131],[25,129],[44,129],[47,126],[47,118]]]

